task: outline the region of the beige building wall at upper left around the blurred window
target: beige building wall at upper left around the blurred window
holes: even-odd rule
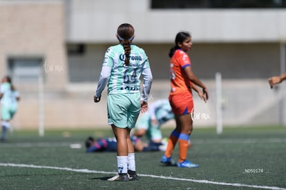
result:
[[[63,91],[68,79],[64,3],[0,1],[0,25],[0,76],[10,74],[19,89],[33,91],[41,74],[45,89]],[[36,69],[37,63],[27,63],[31,60],[39,60]]]

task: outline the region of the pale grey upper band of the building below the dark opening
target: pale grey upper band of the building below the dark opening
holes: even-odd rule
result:
[[[151,9],[151,0],[66,1],[69,43],[113,43],[120,23],[132,23],[142,43],[173,43],[179,30],[196,42],[286,41],[285,9]],[[113,6],[111,6],[113,5]]]

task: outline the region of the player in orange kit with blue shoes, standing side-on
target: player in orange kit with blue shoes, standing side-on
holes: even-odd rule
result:
[[[171,73],[171,92],[169,101],[175,114],[176,127],[169,136],[168,145],[161,162],[165,165],[175,165],[171,158],[173,149],[178,141],[179,160],[178,167],[198,167],[187,160],[188,141],[193,130],[193,96],[191,92],[192,85],[202,88],[204,101],[209,97],[207,87],[193,74],[191,69],[191,60],[187,52],[191,50],[193,43],[191,35],[188,32],[179,32],[175,36],[175,46],[171,48],[169,56]]]

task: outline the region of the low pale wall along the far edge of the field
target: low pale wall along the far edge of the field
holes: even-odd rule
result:
[[[209,88],[209,101],[204,103],[194,92],[195,127],[216,126],[216,83],[203,80]],[[46,129],[109,127],[106,114],[106,91],[102,101],[93,103],[96,83],[70,83],[64,93],[44,93]],[[154,81],[149,103],[168,98],[169,81]],[[19,110],[12,121],[15,129],[37,129],[39,100],[37,94],[22,93]],[[270,89],[262,79],[222,80],[222,122],[224,126],[283,125],[286,86]],[[285,110],[285,109],[284,109]],[[281,116],[281,114],[283,114]],[[141,115],[140,115],[141,116]],[[170,121],[164,126],[173,127]],[[163,127],[164,127],[163,126]]]

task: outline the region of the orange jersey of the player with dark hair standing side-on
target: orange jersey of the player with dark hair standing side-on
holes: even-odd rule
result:
[[[191,67],[189,55],[182,50],[175,50],[170,61],[171,92],[170,95],[191,92],[191,82],[184,72],[185,67]]]

